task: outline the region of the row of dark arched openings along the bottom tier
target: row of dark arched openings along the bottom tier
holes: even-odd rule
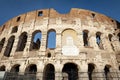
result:
[[[10,72],[18,73],[20,70],[19,68],[20,68],[20,65],[16,64],[11,68]],[[111,68],[110,65],[105,65],[105,67],[104,67],[104,72],[103,72],[104,76],[103,77],[106,78],[106,80],[108,80],[108,78],[110,78],[110,68]],[[0,71],[5,71],[4,65],[0,67]],[[74,64],[74,63],[64,64],[61,72],[62,72],[63,80],[66,80],[64,78],[67,78],[68,80],[78,80],[80,75],[82,75],[82,74],[79,74],[78,65]],[[24,75],[33,74],[34,77],[36,77],[37,73],[38,73],[38,70],[37,70],[36,64],[30,64],[29,66],[26,67]],[[98,77],[98,76],[96,76],[97,73],[94,74],[95,73],[95,64],[93,64],[93,63],[89,63],[87,72],[82,72],[82,73],[87,73],[89,80],[93,80],[93,78]],[[54,65],[47,64],[44,67],[42,74],[43,74],[43,80],[55,80],[56,70],[55,70]],[[84,77],[84,76],[82,76],[82,77]]]

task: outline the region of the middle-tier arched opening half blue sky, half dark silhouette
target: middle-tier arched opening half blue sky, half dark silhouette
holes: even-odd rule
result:
[[[37,30],[32,33],[32,40],[30,45],[30,50],[38,50],[41,45],[41,31]]]

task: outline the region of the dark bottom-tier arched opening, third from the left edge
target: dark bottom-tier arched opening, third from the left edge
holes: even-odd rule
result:
[[[37,66],[35,64],[29,65],[25,70],[25,77],[28,80],[36,80]]]

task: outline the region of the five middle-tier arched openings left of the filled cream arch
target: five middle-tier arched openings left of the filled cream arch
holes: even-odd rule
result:
[[[42,37],[42,34],[41,34],[40,30],[36,30],[35,32],[32,33],[32,39],[31,39],[31,43],[30,43],[30,51],[31,50],[38,50],[40,48],[41,37]],[[23,51],[24,50],[24,48],[26,46],[26,43],[27,43],[27,38],[28,38],[27,32],[23,32],[19,36],[19,41],[18,41],[18,44],[17,44],[16,51]],[[15,36],[14,35],[11,36],[8,39],[8,43],[7,43],[7,46],[5,48],[4,56],[7,56],[7,57],[10,56],[10,52],[12,50],[14,41],[15,41]],[[0,43],[1,43],[0,44],[0,52],[1,52],[1,50],[4,46],[4,43],[5,43],[5,38],[3,38],[0,41]],[[48,44],[46,46],[47,48],[55,48],[55,46],[56,46],[56,32],[54,30],[48,31],[47,44]]]

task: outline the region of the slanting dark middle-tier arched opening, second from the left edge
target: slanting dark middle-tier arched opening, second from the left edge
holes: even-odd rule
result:
[[[11,36],[11,37],[8,39],[8,43],[7,43],[5,52],[4,52],[4,56],[6,56],[6,57],[9,57],[9,56],[10,56],[10,53],[11,53],[11,50],[12,50],[12,47],[13,47],[14,40],[15,40],[15,36]]]

